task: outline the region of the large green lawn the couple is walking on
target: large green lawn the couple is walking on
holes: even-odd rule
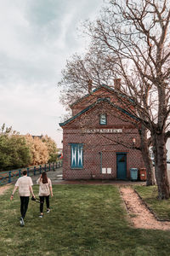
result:
[[[112,185],[54,185],[51,212],[38,218],[30,201],[20,227],[20,199],[0,196],[0,255],[170,255],[170,231],[136,230]],[[34,186],[35,195],[38,187]]]

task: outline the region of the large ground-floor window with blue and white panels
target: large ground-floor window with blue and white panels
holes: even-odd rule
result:
[[[71,168],[83,168],[83,145],[71,143]]]

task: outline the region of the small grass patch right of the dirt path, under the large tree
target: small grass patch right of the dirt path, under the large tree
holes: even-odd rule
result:
[[[135,189],[158,218],[170,220],[170,199],[158,200],[156,186],[136,186]]]

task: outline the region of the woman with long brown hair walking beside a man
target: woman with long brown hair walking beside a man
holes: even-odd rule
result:
[[[49,195],[53,196],[52,183],[50,178],[47,177],[46,172],[42,172],[41,176],[37,179],[37,184],[39,184],[39,198],[40,198],[40,215],[43,217],[43,203],[46,200],[47,212],[50,212],[49,207]]]

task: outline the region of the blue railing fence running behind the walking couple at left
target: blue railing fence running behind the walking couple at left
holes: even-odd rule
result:
[[[27,168],[12,170],[8,172],[0,172],[0,186],[6,183],[13,183],[14,181],[16,181],[18,177],[22,175],[22,172],[25,170],[27,171],[27,176],[31,177],[37,174],[41,174],[42,172],[54,171],[55,169],[62,166],[63,166],[63,161],[58,160],[57,162],[49,163],[45,165],[30,166]]]

